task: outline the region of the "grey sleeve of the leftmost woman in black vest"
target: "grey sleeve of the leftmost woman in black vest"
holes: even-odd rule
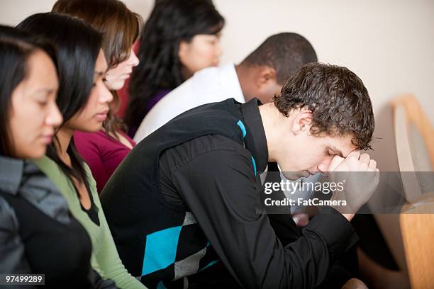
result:
[[[30,266],[24,256],[24,245],[18,234],[18,219],[15,211],[1,196],[0,256],[0,273],[30,273]]]

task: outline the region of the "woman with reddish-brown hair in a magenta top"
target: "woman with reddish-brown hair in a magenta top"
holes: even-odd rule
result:
[[[109,62],[104,82],[113,94],[113,101],[101,130],[74,133],[77,150],[89,165],[98,193],[101,193],[113,171],[135,146],[122,131],[125,125],[116,118],[119,106],[116,90],[122,88],[139,63],[132,46],[142,20],[118,0],[58,0],[52,11],[81,18],[103,35],[102,48]]]

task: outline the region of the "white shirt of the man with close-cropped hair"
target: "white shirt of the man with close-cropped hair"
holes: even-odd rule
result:
[[[191,108],[227,98],[245,102],[235,65],[231,63],[202,69],[155,104],[140,123],[134,140],[140,142],[169,120]]]

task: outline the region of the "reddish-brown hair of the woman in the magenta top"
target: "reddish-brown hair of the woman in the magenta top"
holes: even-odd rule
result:
[[[57,0],[52,11],[78,17],[103,35],[102,49],[109,69],[128,59],[131,47],[143,26],[142,18],[119,0]],[[116,118],[119,96],[116,91],[111,91],[111,94],[111,110],[103,126],[107,135],[117,138],[116,131],[126,128]]]

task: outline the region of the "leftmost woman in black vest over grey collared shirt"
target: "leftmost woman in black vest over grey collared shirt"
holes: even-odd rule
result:
[[[91,241],[67,201],[30,160],[62,123],[55,48],[0,26],[0,272],[45,274],[54,288],[94,288]]]

